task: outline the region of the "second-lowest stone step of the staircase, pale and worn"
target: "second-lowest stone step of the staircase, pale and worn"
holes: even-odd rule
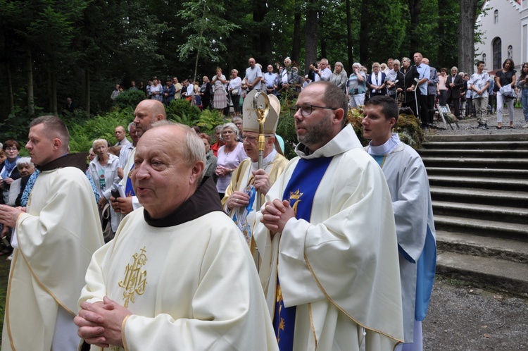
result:
[[[528,242],[437,230],[436,247],[442,251],[458,252],[472,256],[496,257],[507,261],[528,264]]]

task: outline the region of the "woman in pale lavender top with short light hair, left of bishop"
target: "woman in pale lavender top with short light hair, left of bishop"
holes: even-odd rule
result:
[[[216,164],[215,174],[218,176],[216,183],[216,190],[220,199],[224,198],[227,185],[231,182],[231,173],[234,168],[248,158],[244,151],[244,146],[239,139],[239,128],[234,123],[225,123],[222,128],[222,140],[225,145],[218,150],[218,161]]]

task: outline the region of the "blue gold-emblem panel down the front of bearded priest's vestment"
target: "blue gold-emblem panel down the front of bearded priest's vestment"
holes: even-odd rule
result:
[[[318,159],[300,159],[291,174],[287,187],[284,189],[282,199],[288,199],[294,209],[295,218],[310,221],[315,192],[318,190],[322,177],[332,161],[332,157]],[[277,270],[280,267],[277,268]],[[294,329],[296,306],[284,307],[279,275],[277,273],[277,293],[273,328],[279,350],[290,351],[294,347]]]

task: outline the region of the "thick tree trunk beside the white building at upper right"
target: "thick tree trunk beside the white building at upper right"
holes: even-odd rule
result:
[[[477,17],[477,0],[460,0],[458,23],[458,69],[474,70],[474,21]]]

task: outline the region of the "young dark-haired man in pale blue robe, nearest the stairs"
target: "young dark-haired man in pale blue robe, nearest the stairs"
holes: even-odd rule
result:
[[[420,155],[391,133],[398,106],[389,97],[373,97],[363,109],[367,152],[382,167],[391,192],[403,298],[403,349],[422,350],[425,319],[436,268],[436,242],[429,180]]]

